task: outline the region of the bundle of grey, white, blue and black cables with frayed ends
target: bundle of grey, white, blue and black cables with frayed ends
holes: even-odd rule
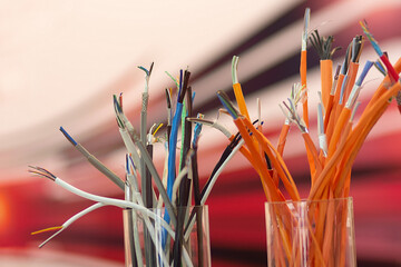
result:
[[[45,177],[55,181],[63,189],[82,198],[95,201],[92,206],[72,216],[63,225],[39,230],[35,234],[57,230],[45,240],[39,247],[45,246],[49,240],[68,228],[74,221],[90,211],[104,206],[116,206],[129,211],[130,237],[130,261],[134,266],[207,266],[209,264],[209,249],[204,246],[203,229],[207,229],[202,220],[202,214],[213,186],[226,164],[238,151],[243,150],[244,140],[239,134],[232,135],[225,127],[204,118],[202,113],[193,117],[193,101],[195,92],[189,86],[190,72],[180,70],[179,78],[175,79],[166,72],[176,85],[176,97],[173,89],[166,89],[167,102],[167,127],[166,135],[158,135],[163,123],[154,123],[147,131],[147,106],[149,79],[153,71],[153,63],[149,69],[139,67],[145,72],[145,90],[143,91],[143,106],[140,111],[140,129],[136,130],[123,110],[123,93],[114,96],[114,110],[116,122],[121,139],[127,149],[126,155],[126,178],[121,179],[91,155],[82,145],[76,141],[62,127],[60,131],[66,139],[102,175],[109,178],[125,192],[125,199],[106,198],[82,191],[72,187],[67,181],[55,176],[49,170],[30,166],[31,174]],[[193,123],[195,125],[193,129]],[[211,126],[223,132],[229,142],[223,151],[221,159],[211,172],[209,179],[202,188],[198,178],[197,167],[197,144],[200,137],[203,125]],[[180,135],[180,137],[179,137]],[[182,144],[178,145],[178,140]],[[153,147],[162,144],[165,147],[165,168],[159,175],[153,161]],[[177,155],[179,152],[179,156]],[[178,161],[179,160],[179,161]],[[165,214],[156,211],[164,208]],[[140,247],[137,221],[144,221],[145,247]],[[158,237],[156,225],[162,228],[162,236]],[[197,260],[193,263],[190,246],[187,244],[190,231],[196,225],[197,231]],[[207,240],[208,241],[208,240]],[[207,244],[206,244],[207,245]],[[163,249],[159,249],[159,247]],[[145,257],[141,256],[145,250]],[[208,260],[208,263],[206,261]]]

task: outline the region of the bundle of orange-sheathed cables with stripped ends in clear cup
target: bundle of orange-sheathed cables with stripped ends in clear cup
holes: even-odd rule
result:
[[[356,79],[359,69],[359,58],[363,48],[363,37],[356,36],[350,43],[344,63],[336,69],[333,78],[332,56],[338,48],[332,49],[333,37],[321,38],[315,31],[311,34],[310,40],[316,48],[321,57],[321,103],[319,107],[319,149],[314,145],[309,134],[309,113],[307,113],[307,96],[306,96],[306,39],[309,24],[309,9],[305,12],[305,29],[303,34],[303,46],[301,51],[301,85],[294,86],[288,103],[284,102],[282,109],[287,116],[284,123],[278,145],[275,147],[262,132],[255,127],[251,120],[244,100],[244,95],[239,82],[236,78],[236,68],[238,58],[233,59],[233,89],[235,99],[238,105],[237,110],[231,102],[228,97],[223,92],[217,92],[223,106],[233,117],[234,123],[241,132],[245,141],[242,152],[258,174],[263,190],[268,202],[285,201],[284,194],[280,187],[282,182],[286,194],[293,201],[300,201],[301,197],[297,187],[283,160],[283,151],[285,139],[291,123],[295,123],[304,139],[309,168],[311,172],[311,190],[307,200],[339,199],[349,197],[351,169],[352,165],[360,151],[369,132],[389,107],[392,99],[400,92],[401,85],[398,79],[385,76],[381,85],[375,90],[365,109],[362,111],[358,122],[354,122],[354,115],[359,107],[356,101],[360,93],[363,79],[372,67],[372,62],[368,61],[361,75]],[[361,22],[368,39],[375,41],[368,31],[365,24]],[[378,46],[378,43],[372,43]],[[385,56],[384,56],[385,57]],[[381,58],[382,60],[382,58]],[[380,65],[381,66],[381,65]],[[378,67],[380,67],[378,66]],[[401,71],[401,59],[394,66],[385,63],[387,71],[383,67],[382,71],[387,75],[399,73]],[[393,68],[390,70],[390,68]],[[297,103],[303,103],[302,117],[297,113]],[[324,110],[324,111],[323,111]],[[270,161],[270,162],[267,162]],[[273,227],[276,230],[276,238],[283,244],[282,250],[276,250],[276,266],[285,265],[284,256],[287,264],[296,266],[296,257],[299,251],[293,251],[290,225],[291,211],[276,210],[276,220],[273,220]],[[281,212],[281,214],[278,214]],[[312,244],[314,244],[311,254],[311,266],[334,266],[333,257],[340,258],[339,263],[343,263],[344,251],[340,248],[333,255],[333,248],[330,247],[333,236],[331,234],[334,216],[338,212],[330,205],[316,206],[310,208],[310,221],[314,221],[315,229],[312,229],[310,222],[310,231]],[[341,211],[346,212],[346,210]],[[283,215],[284,214],[284,215]],[[286,219],[283,219],[286,218]],[[338,261],[336,261],[338,263]],[[292,266],[292,265],[291,265]]]

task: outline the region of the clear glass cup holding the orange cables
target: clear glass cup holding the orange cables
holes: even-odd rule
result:
[[[268,267],[356,266],[352,198],[266,202]]]

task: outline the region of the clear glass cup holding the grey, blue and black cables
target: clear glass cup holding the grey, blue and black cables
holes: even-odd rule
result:
[[[123,211],[126,266],[212,266],[207,206],[178,207],[175,227],[165,211]]]

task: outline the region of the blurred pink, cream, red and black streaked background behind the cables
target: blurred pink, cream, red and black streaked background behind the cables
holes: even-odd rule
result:
[[[262,100],[266,136],[276,144],[284,118],[278,103],[299,81],[303,13],[311,8],[311,30],[333,34],[341,63],[348,43],[362,34],[366,19],[389,58],[401,56],[401,1],[0,1],[0,266],[124,266],[121,210],[89,214],[45,248],[48,235],[31,231],[57,226],[88,207],[82,200],[27,172],[45,167],[94,194],[123,195],[92,168],[58,131],[63,126],[89,151],[124,177],[124,144],[114,119],[113,93],[139,126],[143,71],[155,62],[150,80],[149,127],[166,121],[165,75],[189,67],[196,91],[194,110],[214,119],[217,90],[231,92],[231,59],[239,56],[251,117]],[[311,132],[315,134],[319,58],[309,48]],[[361,63],[375,60],[369,43]],[[372,70],[361,99],[380,82]],[[228,118],[222,123],[234,131]],[[314,135],[316,136],[316,135]],[[391,105],[370,134],[353,168],[359,266],[401,266],[401,117]],[[227,141],[204,128],[199,140],[204,182]],[[157,154],[157,151],[159,151]],[[155,161],[163,165],[163,147]],[[309,176],[303,144],[292,129],[284,159],[303,197]],[[218,179],[209,206],[213,266],[266,266],[264,194],[258,177],[236,156]]]

